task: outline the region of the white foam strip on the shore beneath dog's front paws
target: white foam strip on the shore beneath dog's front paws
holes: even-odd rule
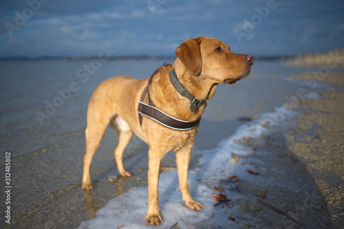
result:
[[[289,117],[294,115],[295,112],[288,112]],[[242,223],[258,221],[252,219],[252,216],[249,219],[242,216],[236,221],[230,219],[230,213],[240,209],[239,205],[232,204],[233,200],[247,198],[235,191],[235,179],[245,179],[256,184],[267,182],[248,173],[248,165],[242,162],[253,160],[250,155],[257,153],[255,146],[247,142],[268,133],[269,124],[277,119],[278,113],[261,115],[257,120],[239,127],[235,135],[219,142],[215,149],[197,152],[203,155],[200,158],[201,167],[189,171],[189,189],[193,198],[204,206],[202,210],[191,210],[182,203],[176,170],[162,173],[159,180],[159,206],[163,222],[157,228],[209,228],[211,225],[241,228]],[[79,228],[154,228],[146,222],[147,194],[147,187],[132,188],[111,199],[96,212],[95,219],[81,223]]]

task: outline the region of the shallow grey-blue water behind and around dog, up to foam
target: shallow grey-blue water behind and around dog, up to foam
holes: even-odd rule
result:
[[[109,129],[92,163],[96,190],[92,197],[84,197],[79,185],[87,104],[103,80],[118,75],[147,78],[163,62],[172,61],[107,61],[93,69],[87,67],[90,61],[0,63],[0,145],[3,153],[12,153],[12,222],[31,225],[31,217],[43,223],[44,215],[52,215],[50,226],[78,226],[80,221],[94,217],[95,210],[110,198],[147,183],[147,146],[138,138],[133,138],[125,151],[125,165],[134,174],[133,179],[120,179],[120,186],[107,182],[108,175],[118,175],[113,155],[116,134]],[[300,87],[286,79],[310,69],[256,61],[245,80],[219,85],[202,116],[193,151],[217,146],[242,124],[240,117],[281,107],[288,102],[286,96],[295,95]],[[4,160],[0,158],[1,177]],[[173,154],[167,155],[163,165],[173,166],[174,160]],[[197,160],[191,162],[192,166],[197,166]],[[82,203],[81,210],[61,212],[61,203],[73,197],[76,202],[72,205]],[[87,207],[89,199],[98,202]],[[70,214],[74,217],[67,219]],[[58,220],[61,215],[66,219]]]

